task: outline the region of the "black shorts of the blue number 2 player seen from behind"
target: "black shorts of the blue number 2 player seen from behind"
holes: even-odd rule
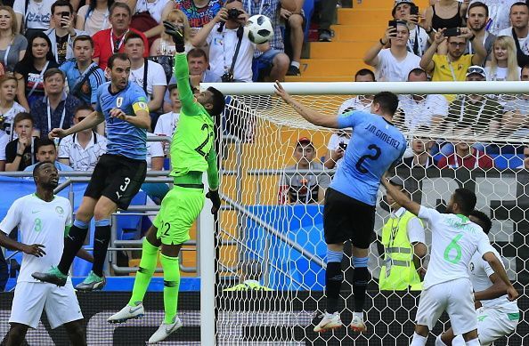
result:
[[[375,205],[327,189],[323,207],[323,233],[327,244],[351,240],[354,247],[370,247],[375,228]]]

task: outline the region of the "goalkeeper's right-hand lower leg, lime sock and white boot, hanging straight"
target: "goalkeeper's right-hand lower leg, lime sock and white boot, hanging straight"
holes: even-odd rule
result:
[[[178,253],[182,244],[161,245],[160,262],[164,269],[164,310],[165,318],[158,330],[152,334],[149,342],[161,342],[182,326],[176,316],[178,306],[178,289],[180,287],[180,266]]]

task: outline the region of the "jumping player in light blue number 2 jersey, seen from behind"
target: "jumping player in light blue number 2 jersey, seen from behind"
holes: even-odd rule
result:
[[[368,250],[374,237],[375,204],[380,178],[390,166],[399,162],[406,141],[391,123],[398,107],[394,93],[375,95],[370,113],[353,111],[346,114],[324,115],[295,101],[279,82],[276,94],[310,123],[330,128],[353,128],[344,162],[338,166],[330,188],[325,194],[323,231],[327,243],[327,270],[325,292],[327,310],[314,332],[324,332],[342,325],[338,312],[338,298],[343,281],[341,269],[344,242],[353,245],[354,313],[350,324],[355,332],[365,332],[363,306],[365,290],[370,279],[367,268]]]

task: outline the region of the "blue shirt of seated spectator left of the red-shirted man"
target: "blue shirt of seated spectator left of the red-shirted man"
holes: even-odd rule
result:
[[[78,99],[85,102],[85,104],[96,103],[97,88],[99,88],[99,85],[105,83],[106,79],[103,70],[95,62],[86,68],[83,73],[77,68],[77,61],[75,59],[64,61],[59,68],[66,74],[70,94],[75,92],[74,89],[77,89],[78,92],[74,96]],[[88,79],[86,79],[83,85],[77,86],[83,80],[85,74],[89,74]]]

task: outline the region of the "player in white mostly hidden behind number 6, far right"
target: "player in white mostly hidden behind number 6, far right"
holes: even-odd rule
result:
[[[468,216],[470,221],[481,226],[485,234],[489,234],[492,221],[477,210]],[[500,253],[494,254],[501,258]],[[512,334],[518,324],[520,312],[517,302],[509,302],[506,286],[498,278],[479,253],[474,253],[468,265],[470,281],[474,287],[474,300],[477,308],[477,337],[482,346],[490,346],[492,342],[503,336]],[[435,346],[464,345],[461,335],[454,335],[452,328],[437,336]]]

